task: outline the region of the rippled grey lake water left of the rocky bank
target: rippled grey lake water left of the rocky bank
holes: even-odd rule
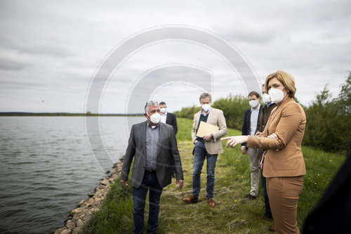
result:
[[[126,117],[98,121],[109,155],[99,160],[84,117],[0,117],[0,233],[49,233],[88,198],[128,143]]]

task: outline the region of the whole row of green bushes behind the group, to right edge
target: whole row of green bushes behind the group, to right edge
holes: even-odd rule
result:
[[[213,108],[223,110],[227,126],[241,129],[244,112],[250,108],[244,96],[220,98]],[[310,105],[303,106],[307,124],[303,145],[310,145],[329,152],[347,152],[351,149],[351,72],[340,87],[338,97],[332,98],[328,86],[317,93]],[[177,117],[193,119],[201,107],[191,106],[176,111]]]

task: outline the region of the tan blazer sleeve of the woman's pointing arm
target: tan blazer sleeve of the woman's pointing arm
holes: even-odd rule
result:
[[[291,138],[293,138],[293,136],[298,131],[298,126],[300,126],[300,124],[305,124],[303,110],[301,110],[300,105],[297,103],[295,104],[296,105],[284,106],[282,109],[281,117],[277,122],[276,131],[269,133],[277,134],[278,140],[258,136],[249,136],[247,146],[251,148],[263,148],[265,150],[284,149],[286,144],[289,143]],[[267,129],[265,129],[265,133],[267,133]]]

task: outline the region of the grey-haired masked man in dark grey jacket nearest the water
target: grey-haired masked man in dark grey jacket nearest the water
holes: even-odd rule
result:
[[[128,174],[134,157],[131,186],[133,186],[133,233],[143,233],[144,208],[149,192],[149,220],[147,233],[156,233],[159,226],[159,201],[162,188],[171,183],[170,158],[176,170],[176,185],[183,187],[183,170],[173,126],[160,122],[157,101],[145,105],[147,121],[131,128],[126,155],[121,170],[121,186],[128,186]]]

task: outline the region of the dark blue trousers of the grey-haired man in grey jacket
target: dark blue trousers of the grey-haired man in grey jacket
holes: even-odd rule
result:
[[[144,230],[144,208],[147,190],[149,190],[147,233],[156,233],[159,226],[159,200],[162,187],[157,181],[156,174],[145,173],[139,188],[133,187],[133,233],[143,233]]]

